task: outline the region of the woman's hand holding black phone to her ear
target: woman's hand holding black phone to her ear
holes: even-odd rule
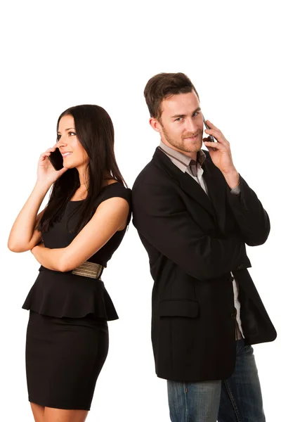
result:
[[[48,157],[51,155],[53,151],[55,151],[56,146],[53,148],[48,148],[48,150],[40,155],[38,167],[37,167],[37,183],[47,185],[51,187],[51,185],[63,174],[67,171],[67,168],[63,167],[61,170],[55,170],[51,161]]]

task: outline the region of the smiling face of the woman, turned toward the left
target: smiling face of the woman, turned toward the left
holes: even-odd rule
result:
[[[60,119],[57,145],[63,155],[63,167],[78,169],[88,164],[89,157],[77,138],[72,115],[63,116]]]

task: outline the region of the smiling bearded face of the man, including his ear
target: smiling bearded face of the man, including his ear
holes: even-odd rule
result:
[[[162,101],[161,108],[161,118],[150,124],[160,133],[162,141],[186,155],[194,155],[200,151],[203,117],[195,92],[166,98]]]

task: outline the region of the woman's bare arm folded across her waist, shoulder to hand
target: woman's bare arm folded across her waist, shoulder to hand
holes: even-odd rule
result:
[[[123,198],[109,198],[101,203],[91,220],[66,248],[49,249],[38,245],[32,249],[37,261],[54,271],[71,271],[79,267],[126,227],[129,204]]]

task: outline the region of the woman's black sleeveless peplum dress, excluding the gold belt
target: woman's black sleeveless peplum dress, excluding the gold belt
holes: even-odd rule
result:
[[[129,224],[131,190],[119,182],[100,191],[96,207],[113,197],[128,201]],[[67,203],[60,222],[42,234],[46,248],[65,248],[72,242],[77,234],[71,230],[77,224],[81,203]],[[117,231],[89,261],[106,267],[125,232]],[[22,307],[30,309],[26,343],[30,402],[57,409],[89,410],[107,357],[107,321],[118,319],[103,281],[40,267]]]

